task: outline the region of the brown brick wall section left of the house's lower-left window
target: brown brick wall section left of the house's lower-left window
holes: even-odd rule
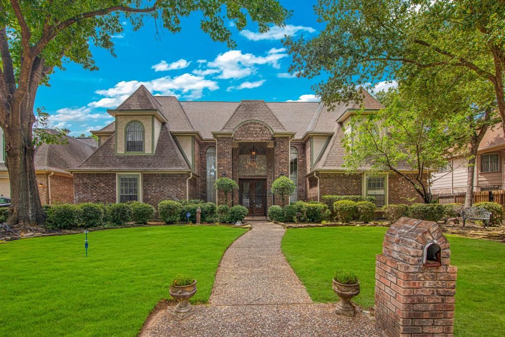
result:
[[[74,173],[74,202],[116,202],[116,173]]]

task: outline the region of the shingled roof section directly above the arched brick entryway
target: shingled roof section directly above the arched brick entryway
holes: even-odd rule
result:
[[[265,122],[272,128],[272,130],[274,130],[274,132],[286,131],[284,125],[282,125],[277,116],[273,114],[272,110],[270,110],[263,100],[240,101],[240,104],[223,125],[221,131],[231,132],[240,123],[247,120],[259,120]]]

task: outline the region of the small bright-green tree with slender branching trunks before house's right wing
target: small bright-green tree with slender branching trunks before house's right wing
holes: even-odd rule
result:
[[[430,203],[430,174],[447,163],[447,153],[462,134],[464,117],[436,118],[430,105],[391,92],[389,105],[374,114],[351,117],[345,135],[345,166],[350,171],[392,171]]]

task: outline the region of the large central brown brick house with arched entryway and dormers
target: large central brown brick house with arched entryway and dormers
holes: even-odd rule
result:
[[[367,92],[363,104],[382,106]],[[138,200],[156,206],[165,199],[203,199],[223,203],[214,181],[237,181],[234,204],[265,215],[280,198],[271,185],[280,175],[297,185],[295,200],[323,195],[373,195],[377,206],[419,198],[397,175],[346,174],[342,138],[349,117],[361,104],[318,102],[179,102],[153,96],[140,86],[117,109],[115,121],[92,131],[99,148],[72,168],[75,202]]]

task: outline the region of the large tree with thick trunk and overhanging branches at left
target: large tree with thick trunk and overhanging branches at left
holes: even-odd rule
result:
[[[224,14],[223,11],[226,13]],[[33,106],[39,84],[47,83],[55,67],[65,60],[97,69],[89,44],[114,55],[112,35],[123,30],[128,19],[134,30],[146,16],[171,32],[180,30],[180,20],[200,12],[200,28],[215,41],[235,45],[225,16],[238,29],[247,14],[268,30],[282,25],[290,15],[276,0],[0,0],[0,126],[5,131],[6,165],[10,172],[11,224],[42,223],[33,164]]]

